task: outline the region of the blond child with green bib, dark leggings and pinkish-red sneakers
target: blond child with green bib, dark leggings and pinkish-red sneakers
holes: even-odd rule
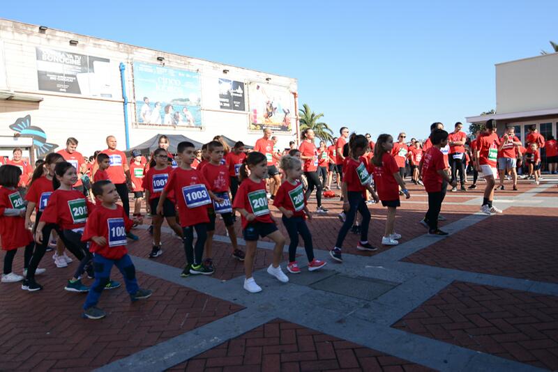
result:
[[[282,222],[287,228],[289,238],[289,265],[287,270],[292,274],[301,272],[296,263],[296,247],[299,245],[299,234],[304,240],[304,249],[308,258],[308,271],[323,268],[326,263],[314,258],[312,234],[306,226],[306,217],[312,219],[312,214],[306,206],[306,198],[300,178],[303,174],[302,163],[296,157],[285,155],[281,158],[281,169],[285,172],[285,182],[280,185],[273,206],[282,212]]]

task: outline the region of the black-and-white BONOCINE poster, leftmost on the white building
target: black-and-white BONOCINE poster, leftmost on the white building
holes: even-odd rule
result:
[[[36,47],[40,91],[112,97],[110,59]]]

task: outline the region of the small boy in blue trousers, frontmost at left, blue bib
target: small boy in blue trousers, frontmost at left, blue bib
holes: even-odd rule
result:
[[[92,189],[97,208],[87,217],[82,241],[91,242],[89,250],[93,252],[93,265],[96,270],[95,281],[83,305],[83,316],[100,319],[107,314],[96,305],[100,294],[110,283],[112,265],[116,265],[122,273],[132,301],[150,297],[151,290],[142,289],[137,285],[135,267],[126,249],[126,232],[130,231],[133,222],[124,213],[123,208],[116,204],[119,198],[116,186],[110,180],[101,180],[93,183]]]

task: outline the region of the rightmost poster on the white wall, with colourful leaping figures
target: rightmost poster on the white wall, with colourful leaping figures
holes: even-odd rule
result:
[[[264,127],[274,132],[292,132],[294,97],[288,88],[251,82],[248,83],[250,126],[259,132]]]

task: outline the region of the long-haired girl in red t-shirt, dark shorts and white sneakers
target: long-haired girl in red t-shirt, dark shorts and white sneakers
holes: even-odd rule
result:
[[[393,148],[393,137],[389,134],[380,134],[376,141],[374,159],[372,159],[372,172],[374,183],[382,206],[388,208],[386,217],[386,229],[382,237],[382,245],[398,245],[401,235],[395,233],[395,212],[401,206],[399,201],[399,187],[409,199],[411,194],[405,187],[401,178],[400,166],[391,155]]]

